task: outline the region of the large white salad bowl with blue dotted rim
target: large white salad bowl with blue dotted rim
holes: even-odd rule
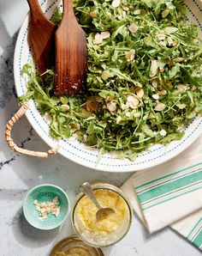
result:
[[[185,1],[189,11],[187,18],[199,25],[199,33],[202,34],[202,2],[199,0]],[[56,6],[62,8],[62,3],[59,0],[43,0],[41,1],[42,9],[48,17],[53,15]],[[20,33],[15,46],[14,72],[15,72],[15,87],[18,96],[25,94],[27,85],[21,76],[21,69],[24,64],[31,61],[30,47],[27,42],[27,31],[29,27],[29,15],[23,21]],[[98,161],[98,149],[87,147],[84,143],[80,143],[75,137],[70,139],[62,138],[56,141],[49,135],[49,121],[42,117],[37,110],[34,101],[30,102],[30,107],[27,110],[27,119],[33,125],[33,129],[38,132],[39,136],[51,148],[56,148],[59,144],[61,147],[58,153],[67,157],[71,161],[77,162],[80,165],[88,168],[94,168],[106,172],[131,172],[145,168],[151,168],[157,164],[168,161],[170,158],[181,153],[184,149],[193,143],[202,132],[202,118],[193,119],[185,128],[185,135],[180,141],[174,141],[168,145],[157,144],[150,149],[139,154],[134,162],[128,159],[120,160],[116,158],[114,153],[105,153],[101,155]]]

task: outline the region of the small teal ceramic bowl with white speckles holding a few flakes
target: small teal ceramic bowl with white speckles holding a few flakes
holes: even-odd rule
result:
[[[47,217],[42,217],[41,211],[36,209],[36,202],[39,204],[45,202],[47,204],[47,202],[54,201],[54,198],[58,198],[56,208],[59,208],[59,213],[57,212],[57,215],[48,213]],[[34,228],[43,230],[56,229],[68,216],[70,210],[69,205],[68,196],[62,188],[51,184],[43,184],[35,186],[27,192],[23,202],[23,213],[27,222]],[[45,210],[45,208],[42,210]]]

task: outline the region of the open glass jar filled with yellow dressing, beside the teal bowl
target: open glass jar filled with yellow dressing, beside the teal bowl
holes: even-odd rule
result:
[[[115,213],[97,221],[98,208],[80,192],[72,211],[72,225],[76,235],[88,245],[108,247],[128,233],[132,222],[131,206],[122,190],[109,183],[93,183],[92,192],[102,207],[110,207]]]

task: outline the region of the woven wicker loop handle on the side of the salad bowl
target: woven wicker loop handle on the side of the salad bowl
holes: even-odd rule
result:
[[[24,102],[21,104],[21,107],[19,110],[15,113],[15,115],[12,117],[12,119],[9,119],[9,122],[6,125],[5,129],[5,139],[8,143],[9,147],[13,149],[15,152],[24,154],[24,155],[32,155],[32,156],[38,156],[41,158],[47,158],[49,155],[55,155],[57,153],[57,150],[59,149],[59,145],[55,149],[50,149],[48,152],[38,152],[38,151],[32,151],[27,149],[21,149],[19,148],[13,141],[11,137],[11,130],[15,123],[21,119],[21,117],[27,112],[27,109],[29,107],[29,102]]]

